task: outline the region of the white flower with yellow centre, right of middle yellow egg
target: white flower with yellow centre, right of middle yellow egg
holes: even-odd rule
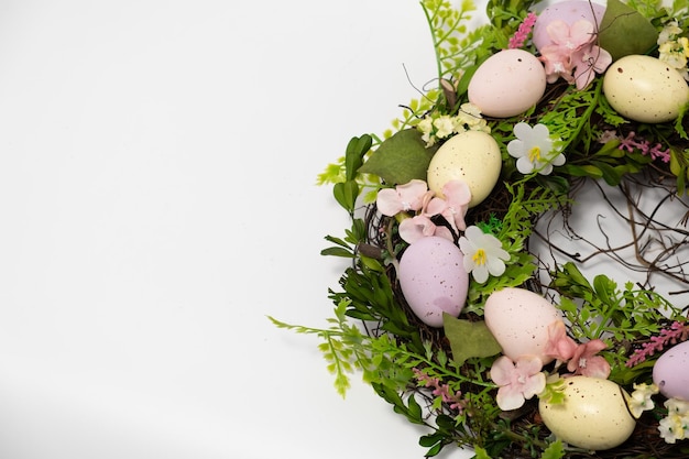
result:
[[[517,159],[517,170],[522,174],[531,174],[536,171],[542,175],[553,172],[553,166],[565,164],[565,155],[553,149],[550,132],[545,124],[536,124],[534,128],[525,122],[514,125],[516,139],[507,144],[507,152]]]

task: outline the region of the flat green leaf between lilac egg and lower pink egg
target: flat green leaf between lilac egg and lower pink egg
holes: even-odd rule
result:
[[[452,360],[458,365],[471,357],[490,357],[502,351],[484,321],[469,321],[444,314],[442,324],[452,349]]]

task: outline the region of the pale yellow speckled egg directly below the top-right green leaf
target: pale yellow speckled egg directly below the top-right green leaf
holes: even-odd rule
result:
[[[620,114],[647,123],[672,121],[689,102],[689,86],[679,72],[656,57],[636,54],[611,64],[603,94]]]

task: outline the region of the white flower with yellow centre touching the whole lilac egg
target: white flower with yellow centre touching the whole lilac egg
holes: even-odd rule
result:
[[[510,254],[502,248],[500,239],[486,234],[481,228],[471,226],[459,238],[459,248],[464,254],[464,270],[482,284],[488,275],[499,276],[505,272]]]

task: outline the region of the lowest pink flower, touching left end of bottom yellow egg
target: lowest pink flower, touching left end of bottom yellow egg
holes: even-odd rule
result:
[[[522,356],[516,363],[506,356],[497,358],[491,367],[491,379],[500,389],[495,402],[503,411],[516,409],[524,402],[546,389],[543,363],[535,356]]]

